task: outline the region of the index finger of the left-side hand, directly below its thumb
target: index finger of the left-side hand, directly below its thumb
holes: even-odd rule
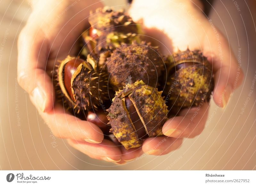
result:
[[[49,112],[40,112],[40,115],[56,137],[89,143],[101,143],[104,138],[98,126],[66,113],[64,108],[58,104]]]

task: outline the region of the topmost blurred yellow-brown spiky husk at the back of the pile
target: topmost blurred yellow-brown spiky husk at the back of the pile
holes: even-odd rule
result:
[[[132,21],[123,11],[114,12],[111,9],[98,9],[89,16],[90,30],[83,33],[85,48],[94,58],[101,53],[108,53],[116,47],[132,41],[140,42],[141,27]]]

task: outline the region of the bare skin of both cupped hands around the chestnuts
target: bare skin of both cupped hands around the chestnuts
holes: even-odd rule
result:
[[[148,138],[142,147],[128,151],[125,151],[124,147],[116,146],[115,143],[103,139],[102,131],[93,123],[72,116],[61,105],[55,103],[50,71],[54,65],[58,64],[57,60],[64,59],[68,54],[75,54],[77,38],[89,27],[87,20],[89,11],[103,6],[93,0],[80,0],[70,6],[73,2],[75,1],[32,1],[33,11],[18,41],[19,84],[28,92],[32,103],[52,129],[53,134],[66,138],[72,147],[91,158],[118,164],[123,164],[143,153],[167,154],[180,147],[182,138],[199,135],[207,119],[207,103],[203,104],[193,122],[190,118],[195,108],[184,109],[178,116],[166,121],[162,129],[166,136]],[[180,2],[184,4],[183,8],[177,6]],[[148,1],[145,3],[144,0],[135,0],[130,14],[135,21],[140,18],[144,20],[147,35],[154,36],[156,29],[164,31],[164,33],[161,32],[162,34],[158,33],[157,38],[160,38],[160,42],[165,41],[164,44],[160,43],[160,46],[167,54],[178,48],[185,50],[187,46],[191,50],[201,49],[213,65],[215,74],[213,100],[223,107],[228,102],[232,83],[236,77],[237,61],[230,51],[228,42],[221,35],[223,61],[222,63],[219,61],[215,34],[200,10],[200,3],[196,2],[196,4],[187,0],[166,0],[161,1],[161,4],[152,5]],[[160,6],[161,11],[156,12],[156,6]],[[69,7],[68,10],[67,7]],[[189,16],[191,14],[184,13],[184,11],[194,15],[201,25],[198,26],[194,19],[191,20]],[[167,22],[172,24],[166,24]],[[181,22],[183,24],[180,24]],[[182,35],[180,35],[180,30],[183,31]],[[220,34],[219,31],[218,33]],[[238,85],[242,80],[243,73],[240,71]],[[221,97],[224,89],[226,92]],[[170,129],[178,130],[170,134]],[[162,143],[157,146],[159,142]]]

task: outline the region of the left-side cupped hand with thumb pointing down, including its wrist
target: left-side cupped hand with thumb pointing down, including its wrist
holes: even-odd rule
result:
[[[102,4],[93,0],[38,0],[32,3],[33,11],[18,41],[18,81],[52,133],[68,139],[71,146],[95,159],[119,161],[121,157],[127,160],[138,156],[139,150],[122,155],[122,149],[103,140],[98,126],[76,118],[55,103],[51,71],[58,60],[68,54],[76,55],[77,40],[89,27],[89,11]]]

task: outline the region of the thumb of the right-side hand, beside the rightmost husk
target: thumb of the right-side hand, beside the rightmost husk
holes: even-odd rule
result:
[[[204,42],[204,55],[213,66],[215,84],[213,100],[218,106],[225,107],[231,93],[241,85],[244,73],[226,38],[217,29],[216,32],[217,39],[216,33],[210,28]]]

